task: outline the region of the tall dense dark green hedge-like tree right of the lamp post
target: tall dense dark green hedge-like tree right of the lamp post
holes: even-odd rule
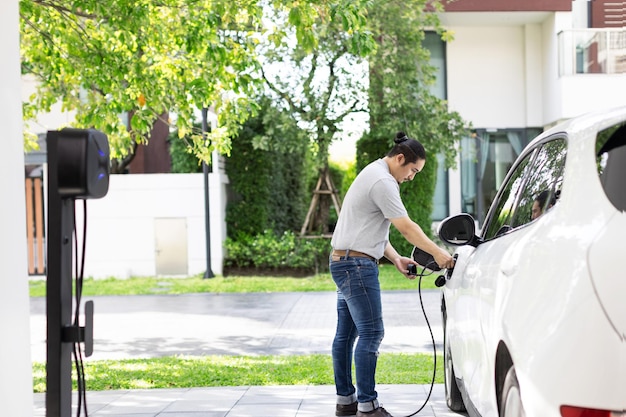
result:
[[[232,190],[226,208],[230,238],[265,230],[299,230],[308,197],[310,176],[306,143],[294,141],[302,132],[267,99],[259,99],[261,112],[248,120],[232,142],[226,173]],[[290,123],[291,122],[291,123]],[[292,145],[277,147],[278,142]]]

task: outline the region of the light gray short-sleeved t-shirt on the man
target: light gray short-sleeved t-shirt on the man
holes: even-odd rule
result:
[[[331,245],[380,259],[389,241],[389,219],[407,215],[400,185],[379,159],[357,175],[346,193]]]

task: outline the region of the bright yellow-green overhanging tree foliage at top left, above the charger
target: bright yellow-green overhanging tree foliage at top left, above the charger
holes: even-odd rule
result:
[[[258,86],[255,45],[267,5],[290,10],[288,22],[309,49],[315,19],[338,19],[362,34],[349,0],[22,0],[22,69],[40,83],[25,118],[61,102],[76,112],[75,127],[108,135],[123,165],[168,113],[180,137],[191,133],[199,158],[209,162],[214,149],[228,154],[229,138],[255,110],[248,97]],[[192,116],[209,106],[218,127],[203,137]]]

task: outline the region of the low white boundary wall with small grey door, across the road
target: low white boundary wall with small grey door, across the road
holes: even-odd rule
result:
[[[225,179],[209,175],[211,268],[222,273]],[[77,204],[77,228],[82,227],[82,203]],[[155,219],[184,219],[187,225],[187,273],[206,271],[203,174],[111,175],[109,192],[87,201],[85,276],[153,276],[157,248]],[[79,232],[79,236],[81,236]],[[171,236],[177,239],[177,236]],[[180,244],[181,242],[172,242]]]

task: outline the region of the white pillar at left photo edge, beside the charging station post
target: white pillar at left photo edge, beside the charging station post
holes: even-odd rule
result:
[[[33,413],[18,1],[0,3],[0,415]]]

